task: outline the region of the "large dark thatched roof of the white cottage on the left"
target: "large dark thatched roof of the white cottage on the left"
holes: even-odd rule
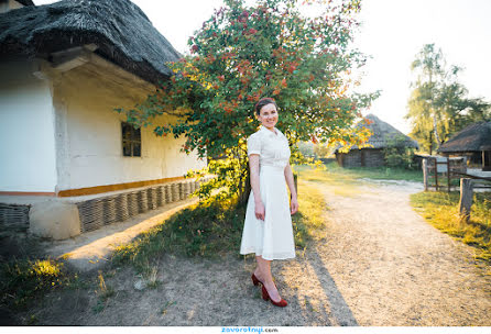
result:
[[[181,55],[129,0],[64,0],[0,14],[0,57],[96,44],[96,54],[150,81],[168,77]]]

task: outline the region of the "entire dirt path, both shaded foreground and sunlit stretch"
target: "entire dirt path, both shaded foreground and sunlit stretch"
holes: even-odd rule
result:
[[[331,208],[326,240],[273,265],[285,309],[261,300],[252,257],[165,256],[155,289],[137,290],[139,277],[123,268],[106,274],[114,289],[106,302],[65,291],[26,316],[50,325],[491,325],[489,276],[469,247],[412,210],[419,186],[372,183],[351,197],[321,189]]]

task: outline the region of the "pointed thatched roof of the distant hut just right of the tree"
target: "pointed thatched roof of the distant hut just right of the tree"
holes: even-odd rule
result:
[[[372,135],[367,142],[367,144],[372,146],[367,148],[385,148],[390,146],[419,148],[416,141],[406,136],[391,124],[380,120],[374,114],[368,114],[365,118],[369,119],[371,123],[367,125],[364,122],[359,122],[357,127],[364,126],[370,129],[370,132],[372,132]],[[338,149],[341,147],[341,145],[338,145],[335,152],[338,152]],[[351,147],[351,149],[356,148],[358,148],[357,145]]]

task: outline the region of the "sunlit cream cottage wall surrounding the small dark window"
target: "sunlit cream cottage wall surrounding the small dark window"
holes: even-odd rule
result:
[[[142,129],[142,156],[123,157],[123,116],[113,109],[146,96],[132,82],[92,64],[63,74],[56,82],[58,190],[179,177],[206,166],[206,159],[179,152],[183,140],[156,137],[150,126]]]

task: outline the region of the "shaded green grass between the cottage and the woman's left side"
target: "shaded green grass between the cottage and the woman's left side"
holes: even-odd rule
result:
[[[143,274],[163,253],[216,258],[240,245],[246,208],[233,200],[209,200],[184,209],[133,242],[117,247],[112,260]]]

